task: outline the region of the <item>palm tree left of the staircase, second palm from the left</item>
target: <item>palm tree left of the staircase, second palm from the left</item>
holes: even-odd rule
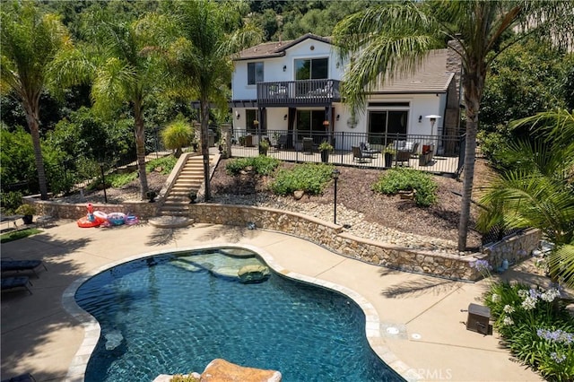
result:
[[[148,31],[141,28],[141,21],[118,20],[117,15],[101,12],[90,16],[92,19],[88,24],[92,29],[88,34],[94,43],[91,50],[88,49],[91,53],[87,57],[76,54],[62,59],[60,73],[68,66],[69,74],[62,75],[63,81],[77,82],[82,77],[74,73],[74,67],[79,67],[78,71],[91,72],[91,98],[97,111],[109,114],[129,105],[135,119],[135,152],[140,195],[144,199],[148,184],[143,113],[152,95],[159,91],[156,84],[161,82],[161,66],[153,56],[145,54],[152,41]]]

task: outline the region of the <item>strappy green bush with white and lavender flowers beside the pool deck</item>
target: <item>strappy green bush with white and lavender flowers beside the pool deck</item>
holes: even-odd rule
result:
[[[494,327],[518,360],[549,381],[574,380],[574,318],[556,289],[497,282],[486,293]]]

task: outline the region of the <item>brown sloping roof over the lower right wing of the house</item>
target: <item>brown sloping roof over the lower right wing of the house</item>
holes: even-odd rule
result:
[[[374,87],[371,94],[435,93],[448,91],[454,77],[447,71],[448,49],[435,49],[422,61],[414,74],[396,75],[382,86]]]

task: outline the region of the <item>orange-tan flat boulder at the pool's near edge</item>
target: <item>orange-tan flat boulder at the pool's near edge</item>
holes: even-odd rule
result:
[[[281,382],[275,370],[245,368],[227,360],[212,360],[204,369],[200,382]]]

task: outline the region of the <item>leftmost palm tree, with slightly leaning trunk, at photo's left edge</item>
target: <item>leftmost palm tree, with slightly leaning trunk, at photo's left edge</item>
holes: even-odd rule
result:
[[[22,103],[38,169],[39,192],[48,186],[39,136],[39,96],[50,84],[49,69],[63,49],[72,48],[64,25],[54,14],[41,14],[31,2],[2,5],[0,91]]]

